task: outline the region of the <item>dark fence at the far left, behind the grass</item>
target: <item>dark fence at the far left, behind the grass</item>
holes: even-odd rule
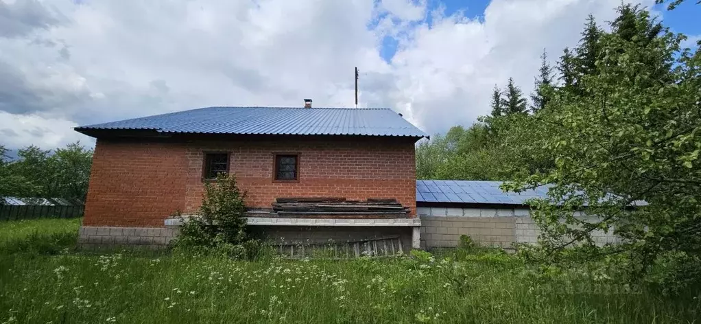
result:
[[[82,217],[83,205],[0,205],[0,221]]]

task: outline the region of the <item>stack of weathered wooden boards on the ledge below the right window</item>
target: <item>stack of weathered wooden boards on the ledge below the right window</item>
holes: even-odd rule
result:
[[[409,215],[409,208],[394,198],[367,198],[366,201],[346,198],[275,198],[273,212],[280,217],[303,215],[374,215],[376,217],[402,217]]]

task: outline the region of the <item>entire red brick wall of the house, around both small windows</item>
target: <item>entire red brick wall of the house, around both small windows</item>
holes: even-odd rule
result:
[[[163,226],[202,199],[203,151],[230,151],[229,170],[249,207],[275,197],[397,198],[416,210],[414,141],[402,138],[188,141],[98,140],[86,202],[86,226]],[[299,183],[273,183],[275,153],[299,154]]]

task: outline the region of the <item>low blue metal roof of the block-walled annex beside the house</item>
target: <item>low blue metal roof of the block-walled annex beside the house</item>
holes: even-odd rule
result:
[[[531,198],[547,198],[547,187],[520,194],[499,189],[501,181],[416,180],[417,203],[484,203],[524,205]]]

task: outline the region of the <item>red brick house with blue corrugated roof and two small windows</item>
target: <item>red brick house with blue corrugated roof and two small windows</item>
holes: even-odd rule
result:
[[[428,135],[390,109],[311,108],[308,100],[304,108],[207,107],[75,130],[97,139],[82,245],[168,243],[179,224],[170,215],[196,215],[203,182],[223,172],[247,191],[250,227],[268,239],[394,235],[418,248],[414,144]],[[284,197],[383,198],[404,212],[275,212]]]

